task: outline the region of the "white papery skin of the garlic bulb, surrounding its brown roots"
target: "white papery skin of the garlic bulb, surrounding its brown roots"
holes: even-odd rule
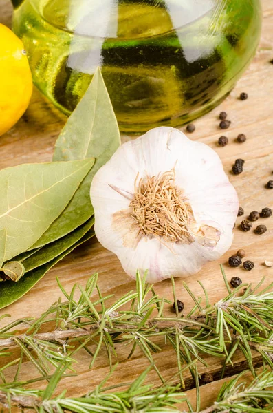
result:
[[[202,246],[197,237],[189,245],[168,246],[156,237],[137,241],[127,213],[113,225],[113,214],[129,210],[138,174],[139,178],[157,176],[174,167],[175,184],[183,189],[197,224],[221,233],[216,246]],[[140,274],[148,270],[147,281],[153,283],[193,275],[206,262],[219,259],[232,244],[239,208],[237,193],[217,153],[177,129],[158,127],[121,145],[94,176],[90,196],[98,241],[118,256],[124,271],[133,278],[137,270]]]

